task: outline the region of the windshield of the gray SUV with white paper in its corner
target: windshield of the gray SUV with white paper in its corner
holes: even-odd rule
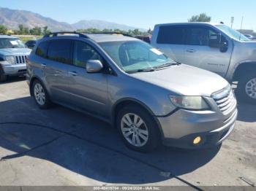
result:
[[[154,69],[175,61],[146,42],[101,42],[99,45],[124,71]]]

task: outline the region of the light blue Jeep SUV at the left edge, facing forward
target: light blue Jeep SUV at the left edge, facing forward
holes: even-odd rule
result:
[[[30,52],[17,37],[0,35],[0,82],[8,75],[26,74],[26,58]]]

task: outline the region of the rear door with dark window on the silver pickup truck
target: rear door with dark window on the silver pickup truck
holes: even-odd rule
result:
[[[157,35],[157,48],[174,61],[184,63],[186,31],[182,25],[159,26]]]

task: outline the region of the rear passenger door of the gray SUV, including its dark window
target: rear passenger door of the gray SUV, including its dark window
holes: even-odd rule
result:
[[[72,41],[69,39],[50,40],[48,61],[43,63],[45,80],[50,89],[50,98],[62,104],[70,104],[69,85],[72,67]]]

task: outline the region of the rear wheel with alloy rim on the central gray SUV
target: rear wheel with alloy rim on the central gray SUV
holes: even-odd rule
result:
[[[39,82],[39,80],[34,80],[32,85],[32,93],[34,101],[36,101],[36,104],[40,109],[50,108],[52,105],[50,102],[50,97],[45,89],[45,86],[42,85],[42,82]]]

